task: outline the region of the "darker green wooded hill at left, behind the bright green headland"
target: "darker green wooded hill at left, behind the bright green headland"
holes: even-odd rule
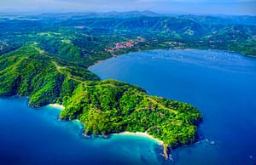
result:
[[[61,67],[56,64],[66,64]],[[90,71],[40,54],[36,48],[26,46],[0,57],[0,95],[30,96],[30,105],[42,106],[62,102],[64,96],[71,95],[79,84],[73,81],[99,80]]]

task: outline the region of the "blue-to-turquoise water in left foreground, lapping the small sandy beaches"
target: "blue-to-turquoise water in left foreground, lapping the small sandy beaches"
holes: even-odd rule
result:
[[[0,164],[160,164],[161,147],[143,137],[82,136],[79,122],[60,122],[60,110],[32,109],[25,98],[0,99]]]

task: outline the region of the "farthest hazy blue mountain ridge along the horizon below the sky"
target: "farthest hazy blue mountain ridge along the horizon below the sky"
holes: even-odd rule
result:
[[[55,17],[53,17],[55,15]],[[15,19],[15,20],[81,20],[90,18],[116,18],[116,19],[132,19],[142,17],[167,17],[177,18],[182,20],[193,20],[200,24],[211,25],[256,25],[256,16],[249,15],[196,15],[196,14],[157,14],[152,11],[128,11],[128,12],[84,12],[84,13],[44,13],[44,14],[0,14],[0,20],[2,19]]]

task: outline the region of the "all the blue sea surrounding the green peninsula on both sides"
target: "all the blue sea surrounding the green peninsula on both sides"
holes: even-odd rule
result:
[[[256,164],[256,59],[223,51],[154,50],[121,55],[90,70],[197,106],[204,116],[199,142],[172,151],[173,161],[166,162],[150,139],[86,139],[79,122],[57,120],[60,110],[1,98],[0,164]]]

